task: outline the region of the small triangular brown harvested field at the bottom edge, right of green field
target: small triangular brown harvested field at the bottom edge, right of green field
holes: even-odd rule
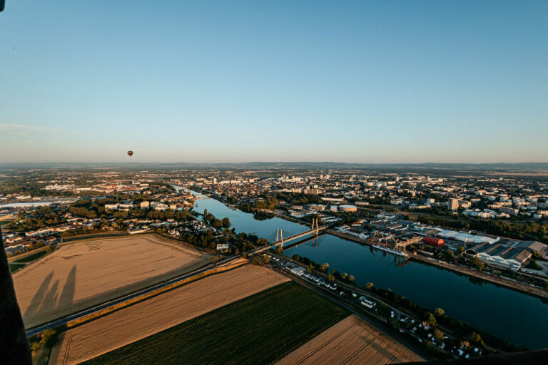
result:
[[[352,314],[285,356],[276,365],[374,365],[410,361],[423,359]]]

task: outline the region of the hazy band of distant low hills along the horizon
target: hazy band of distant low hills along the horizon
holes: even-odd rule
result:
[[[442,171],[539,171],[548,163],[336,163],[336,162],[245,162],[245,163],[0,163],[0,170],[374,170],[406,172]]]

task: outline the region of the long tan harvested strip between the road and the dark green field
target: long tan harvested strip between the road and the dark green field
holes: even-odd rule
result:
[[[78,364],[288,280],[250,264],[205,277],[68,329],[51,351],[50,364]]]

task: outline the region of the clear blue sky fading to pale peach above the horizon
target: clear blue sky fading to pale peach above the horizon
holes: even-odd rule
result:
[[[548,160],[548,1],[30,1],[0,163]]]

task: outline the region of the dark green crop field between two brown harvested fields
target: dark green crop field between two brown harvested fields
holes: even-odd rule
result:
[[[83,364],[271,364],[348,314],[287,282]]]

